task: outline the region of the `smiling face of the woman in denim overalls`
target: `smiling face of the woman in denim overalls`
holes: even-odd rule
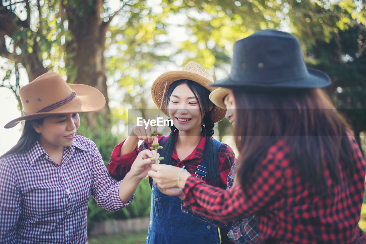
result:
[[[202,115],[198,101],[186,83],[177,86],[168,103],[169,117],[179,131],[201,131]]]

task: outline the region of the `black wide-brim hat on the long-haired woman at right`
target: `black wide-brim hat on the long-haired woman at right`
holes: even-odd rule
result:
[[[329,85],[327,74],[306,67],[296,37],[284,31],[263,30],[234,43],[229,77],[209,86],[268,90]]]

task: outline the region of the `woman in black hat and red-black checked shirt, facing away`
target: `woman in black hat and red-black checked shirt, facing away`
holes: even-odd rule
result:
[[[328,75],[306,68],[298,40],[282,31],[259,31],[233,53],[230,76],[214,85],[235,97],[238,184],[225,191],[171,165],[152,165],[149,176],[163,192],[183,188],[184,206],[208,218],[255,214],[265,243],[366,243],[366,162],[320,90]]]

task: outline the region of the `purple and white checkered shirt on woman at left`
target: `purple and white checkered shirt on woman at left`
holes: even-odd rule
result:
[[[91,140],[75,136],[62,164],[36,142],[0,161],[0,243],[87,243],[87,206],[116,211],[127,206]]]

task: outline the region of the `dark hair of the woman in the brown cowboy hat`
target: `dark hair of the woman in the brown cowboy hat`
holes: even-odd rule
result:
[[[28,151],[29,149],[31,149],[33,144],[38,139],[38,133],[34,130],[31,123],[32,123],[32,121],[34,121],[37,124],[43,124],[43,119],[44,118],[37,119],[37,120],[26,120],[24,123],[22,135],[20,136],[18,142],[9,151],[7,151],[3,155],[1,155],[0,160],[10,154],[24,153],[24,152]]]

